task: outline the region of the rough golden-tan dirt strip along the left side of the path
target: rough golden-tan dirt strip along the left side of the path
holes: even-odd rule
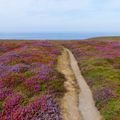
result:
[[[64,74],[66,81],[64,86],[67,90],[60,101],[61,116],[63,120],[82,120],[79,112],[79,88],[75,76],[70,67],[69,55],[64,49],[58,59],[57,69]]]

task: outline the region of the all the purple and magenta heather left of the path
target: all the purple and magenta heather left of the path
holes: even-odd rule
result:
[[[49,41],[0,42],[0,120],[60,120],[51,87],[61,79],[55,70],[60,54]]]

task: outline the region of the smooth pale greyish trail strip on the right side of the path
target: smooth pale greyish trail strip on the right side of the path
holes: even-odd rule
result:
[[[87,85],[86,81],[81,75],[81,72],[79,70],[75,57],[73,56],[70,50],[68,49],[65,49],[65,50],[69,53],[70,65],[80,88],[79,110],[81,112],[83,120],[101,120],[102,117],[99,111],[97,110],[97,108],[95,107],[95,102],[93,100],[92,92],[89,86]],[[72,120],[75,120],[75,119],[72,119]]]

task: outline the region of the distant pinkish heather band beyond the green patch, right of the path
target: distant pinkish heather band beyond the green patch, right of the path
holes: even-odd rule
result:
[[[72,41],[74,42],[74,41]],[[66,44],[77,56],[96,56],[104,58],[113,58],[120,56],[119,41],[75,41],[75,44]],[[96,54],[97,53],[97,54]]]

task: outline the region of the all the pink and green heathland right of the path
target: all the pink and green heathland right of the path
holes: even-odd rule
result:
[[[120,40],[95,38],[63,43],[69,48],[90,86],[105,120],[120,119]]]

